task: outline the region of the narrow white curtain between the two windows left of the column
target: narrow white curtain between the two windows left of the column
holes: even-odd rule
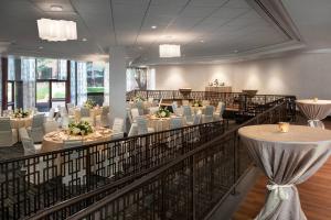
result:
[[[87,99],[87,64],[77,63],[77,106],[83,106]]]

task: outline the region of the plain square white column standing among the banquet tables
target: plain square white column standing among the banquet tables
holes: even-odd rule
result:
[[[110,47],[109,50],[109,106],[110,124],[115,118],[126,120],[126,88],[127,88],[127,65],[124,47]],[[126,128],[124,128],[126,131]]]

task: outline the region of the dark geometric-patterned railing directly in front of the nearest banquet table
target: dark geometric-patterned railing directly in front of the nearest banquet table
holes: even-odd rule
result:
[[[224,130],[216,121],[1,161],[0,219],[28,217],[106,184],[137,178]]]

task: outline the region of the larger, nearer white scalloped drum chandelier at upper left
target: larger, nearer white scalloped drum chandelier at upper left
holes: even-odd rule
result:
[[[40,19],[36,21],[39,37],[46,41],[77,40],[77,26],[74,21]]]

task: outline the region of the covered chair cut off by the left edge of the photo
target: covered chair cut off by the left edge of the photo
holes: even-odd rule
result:
[[[0,118],[0,146],[12,146],[18,142],[18,131],[11,128],[10,118]]]

